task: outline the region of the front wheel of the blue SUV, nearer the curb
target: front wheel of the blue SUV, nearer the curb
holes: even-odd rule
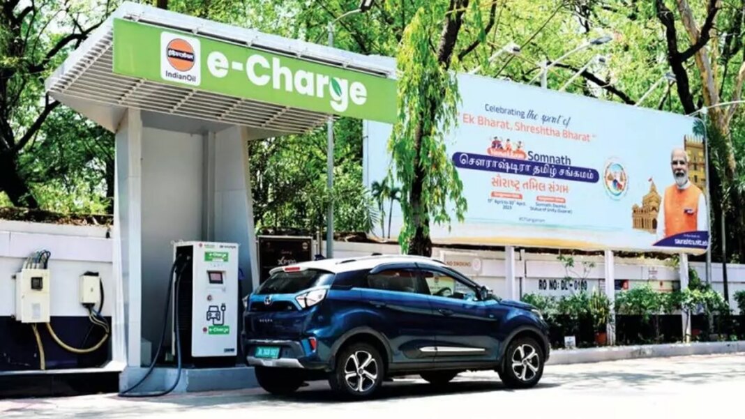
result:
[[[504,360],[497,371],[507,388],[531,388],[543,375],[545,358],[535,339],[514,339],[504,352]]]

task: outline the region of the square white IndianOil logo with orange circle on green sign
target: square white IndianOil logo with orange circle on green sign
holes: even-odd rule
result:
[[[199,86],[202,74],[199,39],[162,32],[160,46],[160,77],[175,83]]]

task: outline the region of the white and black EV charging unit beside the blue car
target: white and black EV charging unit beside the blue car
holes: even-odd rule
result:
[[[174,243],[174,262],[186,260],[174,274],[171,354],[195,365],[235,364],[238,342],[238,244]],[[178,310],[178,322],[176,311]]]

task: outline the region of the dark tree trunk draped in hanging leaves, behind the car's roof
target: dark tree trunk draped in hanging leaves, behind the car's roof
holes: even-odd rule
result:
[[[440,42],[437,48],[437,63],[442,65],[446,71],[450,68],[450,61],[453,56],[458,33],[460,32],[461,25],[463,25],[463,13],[466,12],[468,4],[469,0],[451,0],[450,2],[447,19],[443,25],[443,32],[440,35]],[[429,116],[436,115],[437,109],[443,106],[443,97],[441,95],[428,95],[425,100],[428,101]],[[416,154],[413,161],[414,178],[411,183],[409,202],[413,214],[413,225],[416,227],[413,236],[409,239],[408,254],[431,257],[432,240],[429,237],[429,207],[428,202],[422,201],[425,170],[421,164],[422,140],[425,135],[430,135],[431,132],[425,132],[424,124],[426,124],[426,121],[423,121],[424,119],[424,115],[422,115],[422,118],[419,118],[420,122],[414,131],[414,150],[416,150]],[[434,127],[436,122],[429,122]]]

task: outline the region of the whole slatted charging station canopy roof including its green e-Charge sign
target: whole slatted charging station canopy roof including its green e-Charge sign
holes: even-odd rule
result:
[[[130,108],[261,138],[308,132],[328,115],[393,123],[396,81],[380,58],[125,3],[46,87],[112,131]]]

